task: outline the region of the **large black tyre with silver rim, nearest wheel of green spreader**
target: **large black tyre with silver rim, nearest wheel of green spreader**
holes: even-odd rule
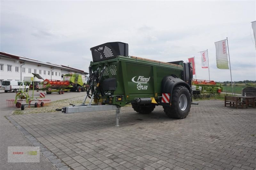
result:
[[[172,106],[163,107],[165,114],[170,118],[186,118],[191,107],[190,93],[188,89],[184,86],[176,86],[172,91]]]

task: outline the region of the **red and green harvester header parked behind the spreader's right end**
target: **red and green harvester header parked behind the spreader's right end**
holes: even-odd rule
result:
[[[193,94],[201,94],[201,93],[221,93],[223,91],[223,87],[220,83],[216,83],[213,80],[192,80],[192,90]]]

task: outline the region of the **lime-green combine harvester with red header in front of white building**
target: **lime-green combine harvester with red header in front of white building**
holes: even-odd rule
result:
[[[62,74],[63,80],[48,80],[45,79],[39,86],[40,90],[46,91],[46,94],[57,92],[64,94],[64,92],[85,92],[86,77],[80,74]],[[67,79],[68,80],[65,80]]]

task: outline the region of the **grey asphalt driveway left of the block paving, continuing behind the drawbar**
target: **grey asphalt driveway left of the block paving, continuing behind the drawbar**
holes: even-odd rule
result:
[[[39,96],[38,92],[35,92]],[[51,94],[46,95],[52,101],[68,99],[76,96],[82,96],[85,93],[67,92],[62,95]],[[15,128],[4,116],[8,116],[15,108],[6,107],[6,99],[14,99],[15,93],[0,92],[0,169],[1,170],[16,170],[16,169],[40,169],[51,170],[55,169],[49,160],[40,156],[40,163],[7,163],[7,147],[8,146],[32,146],[31,142],[27,140],[20,130]]]

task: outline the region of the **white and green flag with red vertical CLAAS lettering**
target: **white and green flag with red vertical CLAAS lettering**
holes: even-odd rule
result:
[[[227,42],[226,40],[214,42],[216,47],[216,62],[217,62],[218,69],[229,69],[226,42]]]

